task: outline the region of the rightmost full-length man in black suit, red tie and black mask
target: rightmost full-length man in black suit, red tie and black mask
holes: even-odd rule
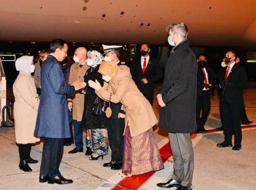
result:
[[[240,122],[240,109],[243,101],[243,88],[247,84],[245,68],[236,64],[236,52],[228,51],[225,62],[227,67],[221,70],[219,87],[221,88],[224,142],[218,147],[232,147],[232,134],[234,146],[232,150],[241,150],[242,129]]]

